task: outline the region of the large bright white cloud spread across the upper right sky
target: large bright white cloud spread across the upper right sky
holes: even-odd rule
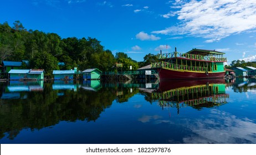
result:
[[[232,34],[256,28],[255,0],[176,1],[181,7],[162,17],[177,16],[180,25],[152,33],[186,34],[207,38],[206,43],[218,42]],[[176,6],[175,6],[176,7]],[[173,9],[172,9],[173,10]]]

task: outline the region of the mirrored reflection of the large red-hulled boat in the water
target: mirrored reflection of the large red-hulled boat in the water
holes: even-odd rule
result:
[[[160,81],[152,98],[158,100],[162,108],[176,107],[178,113],[181,107],[187,106],[200,110],[226,104],[229,94],[226,94],[225,87],[224,79]]]

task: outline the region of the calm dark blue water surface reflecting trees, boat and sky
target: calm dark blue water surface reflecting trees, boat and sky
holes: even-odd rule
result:
[[[0,86],[0,143],[256,143],[255,79]]]

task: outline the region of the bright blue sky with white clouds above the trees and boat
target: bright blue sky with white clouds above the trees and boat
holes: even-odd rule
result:
[[[255,0],[2,0],[0,23],[96,38],[115,55],[215,49],[232,60],[256,61]],[[167,48],[166,48],[167,45]]]

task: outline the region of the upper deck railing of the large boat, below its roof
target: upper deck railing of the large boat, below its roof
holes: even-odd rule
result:
[[[219,62],[227,61],[227,58],[218,57],[218,56],[203,56],[203,55],[178,53],[178,52],[158,54],[157,58],[158,59],[185,58],[185,59],[192,59],[192,60],[199,60],[199,61],[219,61]]]

